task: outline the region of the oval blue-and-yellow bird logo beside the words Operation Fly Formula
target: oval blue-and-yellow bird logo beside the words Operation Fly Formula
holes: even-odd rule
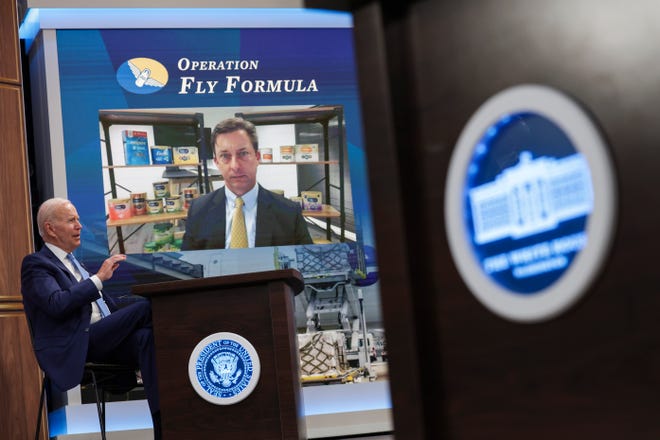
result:
[[[117,82],[124,90],[148,95],[167,84],[169,73],[165,66],[151,58],[131,58],[117,69]]]

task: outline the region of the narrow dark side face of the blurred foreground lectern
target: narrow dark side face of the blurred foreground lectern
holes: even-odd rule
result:
[[[430,367],[419,358],[422,337],[416,326],[416,299],[433,292],[417,289],[423,280],[414,275],[415,264],[423,255],[415,253],[406,231],[404,197],[406,182],[411,178],[401,167],[397,151],[395,108],[397,87],[388,75],[389,47],[383,27],[381,8],[377,3],[353,12],[355,51],[362,102],[365,148],[369,167],[372,213],[376,234],[381,303],[387,335],[390,392],[393,422],[397,438],[426,438],[420,376]],[[396,41],[396,39],[395,39]],[[408,145],[404,143],[402,145]],[[400,147],[399,147],[400,148]],[[431,347],[433,348],[433,347]],[[442,406],[436,399],[433,409]],[[442,419],[442,418],[441,418]],[[438,438],[438,437],[435,437]]]

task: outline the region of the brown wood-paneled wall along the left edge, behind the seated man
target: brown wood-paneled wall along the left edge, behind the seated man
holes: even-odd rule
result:
[[[0,438],[33,438],[41,372],[23,313],[20,264],[33,250],[16,2],[0,1]],[[47,426],[47,424],[45,425]],[[42,437],[46,432],[42,430]]]

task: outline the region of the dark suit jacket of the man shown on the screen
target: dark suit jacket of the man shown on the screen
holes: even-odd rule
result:
[[[193,200],[188,209],[182,250],[225,247],[225,189]],[[259,185],[255,247],[312,244],[298,203]]]

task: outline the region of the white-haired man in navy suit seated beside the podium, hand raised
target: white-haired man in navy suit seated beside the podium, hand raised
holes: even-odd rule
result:
[[[119,308],[103,295],[125,255],[112,255],[96,274],[73,257],[80,246],[82,225],[73,204],[46,200],[37,213],[45,244],[26,256],[21,267],[21,292],[41,369],[65,391],[82,380],[85,362],[132,365],[142,374],[145,393],[159,439],[160,408],[151,307],[147,300]]]

